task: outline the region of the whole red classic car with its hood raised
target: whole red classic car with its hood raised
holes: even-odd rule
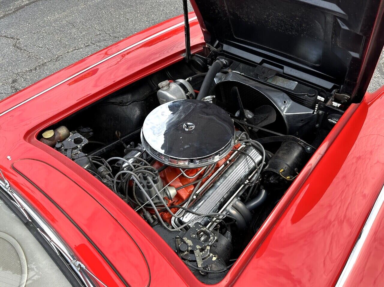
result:
[[[382,286],[384,3],[191,2],[0,103],[2,201],[75,286]]]

